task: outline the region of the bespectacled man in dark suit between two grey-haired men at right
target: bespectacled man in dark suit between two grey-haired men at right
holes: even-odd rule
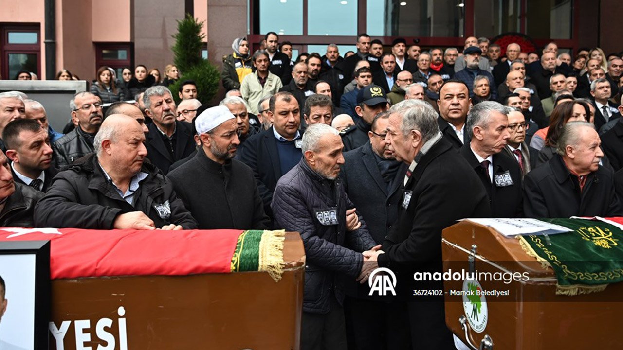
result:
[[[536,157],[538,157],[538,152],[533,148],[528,148],[528,143],[526,143],[526,131],[528,130],[530,130],[530,123],[526,122],[523,113],[515,108],[510,108],[508,112],[508,133],[510,133],[510,137],[506,140],[506,147],[502,153],[517,161],[522,179],[530,173],[533,168],[533,160],[536,161]]]

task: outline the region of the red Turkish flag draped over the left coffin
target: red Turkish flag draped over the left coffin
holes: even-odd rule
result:
[[[231,272],[242,230],[82,230],[1,227],[0,241],[50,240],[50,277]]]

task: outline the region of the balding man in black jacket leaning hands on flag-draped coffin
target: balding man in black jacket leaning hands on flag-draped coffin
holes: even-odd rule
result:
[[[61,171],[35,210],[35,227],[111,230],[196,229],[158,169],[145,162],[135,118],[113,114],[95,135],[95,154]]]

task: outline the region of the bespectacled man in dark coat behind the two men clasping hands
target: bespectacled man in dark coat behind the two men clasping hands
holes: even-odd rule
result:
[[[388,120],[388,112],[374,117],[368,133],[370,141],[344,153],[340,173],[348,198],[366,219],[370,235],[377,244],[383,243],[398,217],[402,179],[407,168],[406,164],[396,161],[384,141]],[[397,307],[390,308],[388,303],[366,297],[368,285],[353,281],[346,287],[346,323],[352,324],[346,329],[352,330],[351,338],[357,348],[409,348],[409,332],[402,326],[409,322],[404,303],[392,304]]]

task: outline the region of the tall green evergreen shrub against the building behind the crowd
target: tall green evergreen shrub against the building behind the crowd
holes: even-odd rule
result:
[[[173,50],[173,62],[178,67],[180,77],[177,82],[169,86],[176,103],[179,103],[179,85],[184,80],[194,80],[197,84],[197,100],[201,103],[209,103],[216,95],[221,81],[221,72],[210,62],[201,57],[203,39],[201,33],[204,22],[199,22],[190,14],[178,21],[178,33],[173,35],[175,44]]]

